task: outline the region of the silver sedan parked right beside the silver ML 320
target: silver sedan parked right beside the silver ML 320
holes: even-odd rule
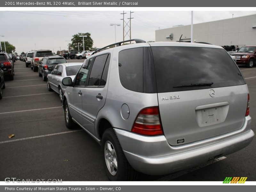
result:
[[[61,82],[65,77],[71,77],[73,80],[77,71],[81,68],[83,63],[62,63],[56,65],[52,73],[47,76],[47,89],[48,91],[55,91],[59,93],[60,101],[62,102],[63,94],[66,87]]]

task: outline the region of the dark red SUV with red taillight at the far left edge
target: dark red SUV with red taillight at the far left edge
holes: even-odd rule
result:
[[[0,52],[0,64],[3,64],[1,65],[1,69],[4,71],[4,77],[8,77],[9,80],[13,80],[14,63],[7,53]]]

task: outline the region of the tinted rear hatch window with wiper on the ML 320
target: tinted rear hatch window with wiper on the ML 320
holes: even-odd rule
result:
[[[239,69],[224,49],[152,47],[152,52],[157,92],[245,84]]]

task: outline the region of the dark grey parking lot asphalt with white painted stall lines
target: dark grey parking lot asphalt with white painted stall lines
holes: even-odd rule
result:
[[[256,132],[256,68],[239,68],[249,87]],[[14,80],[5,82],[0,100],[0,181],[6,177],[107,181],[100,146],[82,129],[66,128],[59,95],[49,92],[25,62],[16,61],[14,69]],[[15,136],[9,139],[10,134]],[[140,174],[138,180],[223,181],[238,176],[256,181],[255,150],[254,139],[248,147],[208,164],[163,176]]]

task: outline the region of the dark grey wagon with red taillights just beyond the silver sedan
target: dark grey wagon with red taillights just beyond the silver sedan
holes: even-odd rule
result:
[[[43,77],[43,80],[46,81],[48,71],[52,71],[52,69],[59,63],[67,63],[67,61],[64,57],[60,56],[48,56],[42,58],[38,65],[39,77]]]

